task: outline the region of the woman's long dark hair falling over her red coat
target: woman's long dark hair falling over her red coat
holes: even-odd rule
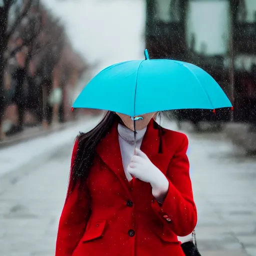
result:
[[[158,113],[160,115],[160,113]],[[79,188],[84,188],[84,184],[89,175],[89,170],[93,164],[96,153],[96,147],[100,140],[110,131],[114,122],[121,122],[120,117],[111,111],[108,111],[102,120],[90,131],[80,134],[76,137],[78,148],[75,155],[74,163],[71,166],[70,182],[71,190],[78,184]],[[156,124],[161,137],[162,128]],[[161,139],[160,139],[161,141]],[[160,143],[161,144],[161,143]],[[161,146],[159,148],[161,152]]]

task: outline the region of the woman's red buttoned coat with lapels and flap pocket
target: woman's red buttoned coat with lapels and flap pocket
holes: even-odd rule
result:
[[[135,179],[132,187],[129,185],[114,125],[97,146],[87,179],[91,199],[85,192],[78,196],[77,188],[67,193],[55,255],[184,256],[177,235],[189,234],[197,220],[187,146],[185,134],[164,129],[159,153],[158,129],[153,121],[148,124],[141,150],[169,180],[160,206],[149,183]],[[71,161],[76,149],[77,143]]]

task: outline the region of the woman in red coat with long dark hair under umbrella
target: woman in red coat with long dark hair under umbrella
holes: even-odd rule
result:
[[[136,121],[136,155],[133,121],[124,114],[107,112],[77,137],[56,256],[184,256],[177,235],[197,220],[188,140],[155,115]]]

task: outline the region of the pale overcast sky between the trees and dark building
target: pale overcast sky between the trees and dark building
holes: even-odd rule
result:
[[[60,16],[74,47],[100,67],[143,58],[143,0],[42,0]]]

